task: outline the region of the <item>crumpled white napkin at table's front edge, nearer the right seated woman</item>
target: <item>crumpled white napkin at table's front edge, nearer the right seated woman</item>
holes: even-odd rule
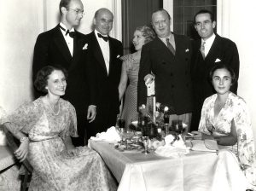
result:
[[[185,146],[183,139],[179,136],[179,140],[174,141],[174,136],[168,135],[165,137],[166,145],[160,146],[155,150],[155,153],[163,157],[178,158],[180,154],[189,153],[189,148]]]

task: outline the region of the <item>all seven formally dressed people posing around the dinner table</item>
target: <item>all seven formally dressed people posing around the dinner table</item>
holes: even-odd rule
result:
[[[98,9],[95,30],[84,35],[74,29],[83,18],[83,3],[61,0],[59,8],[61,22],[41,33],[34,48],[37,99],[5,119],[20,140],[16,157],[28,159],[34,169],[30,190],[116,189],[100,156],[79,146],[114,126],[119,113],[126,124],[137,120],[137,107],[147,103],[148,78],[154,78],[156,101],[172,107],[171,119],[182,119],[190,130],[199,130],[197,136],[230,148],[256,186],[252,124],[245,101],[236,96],[236,43],[214,33],[210,11],[195,14],[201,37],[195,42],[171,32],[165,9],[155,11],[153,29],[137,27],[136,52],[123,56],[122,43],[108,36],[110,10]]]

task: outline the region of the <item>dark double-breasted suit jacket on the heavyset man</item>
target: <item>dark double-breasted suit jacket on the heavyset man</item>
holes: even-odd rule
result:
[[[174,34],[174,39],[175,55],[160,38],[154,38],[143,46],[138,75],[138,107],[146,103],[147,88],[143,78],[153,72],[156,101],[172,107],[172,113],[192,111],[191,43],[182,35]]]

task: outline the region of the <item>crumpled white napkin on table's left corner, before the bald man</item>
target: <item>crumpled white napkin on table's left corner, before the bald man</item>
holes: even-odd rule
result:
[[[118,131],[114,126],[108,128],[106,132],[97,133],[95,136],[90,136],[91,140],[94,141],[105,141],[105,142],[119,142],[121,140]]]

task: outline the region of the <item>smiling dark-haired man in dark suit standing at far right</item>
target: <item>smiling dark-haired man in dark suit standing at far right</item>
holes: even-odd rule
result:
[[[197,130],[201,118],[201,107],[208,96],[215,90],[209,72],[219,62],[230,66],[239,75],[239,55],[236,43],[228,38],[222,38],[213,32],[216,27],[212,12],[202,9],[194,17],[195,30],[201,39],[193,43],[191,75],[193,80],[194,110],[191,130]],[[236,94],[237,83],[230,88]]]

